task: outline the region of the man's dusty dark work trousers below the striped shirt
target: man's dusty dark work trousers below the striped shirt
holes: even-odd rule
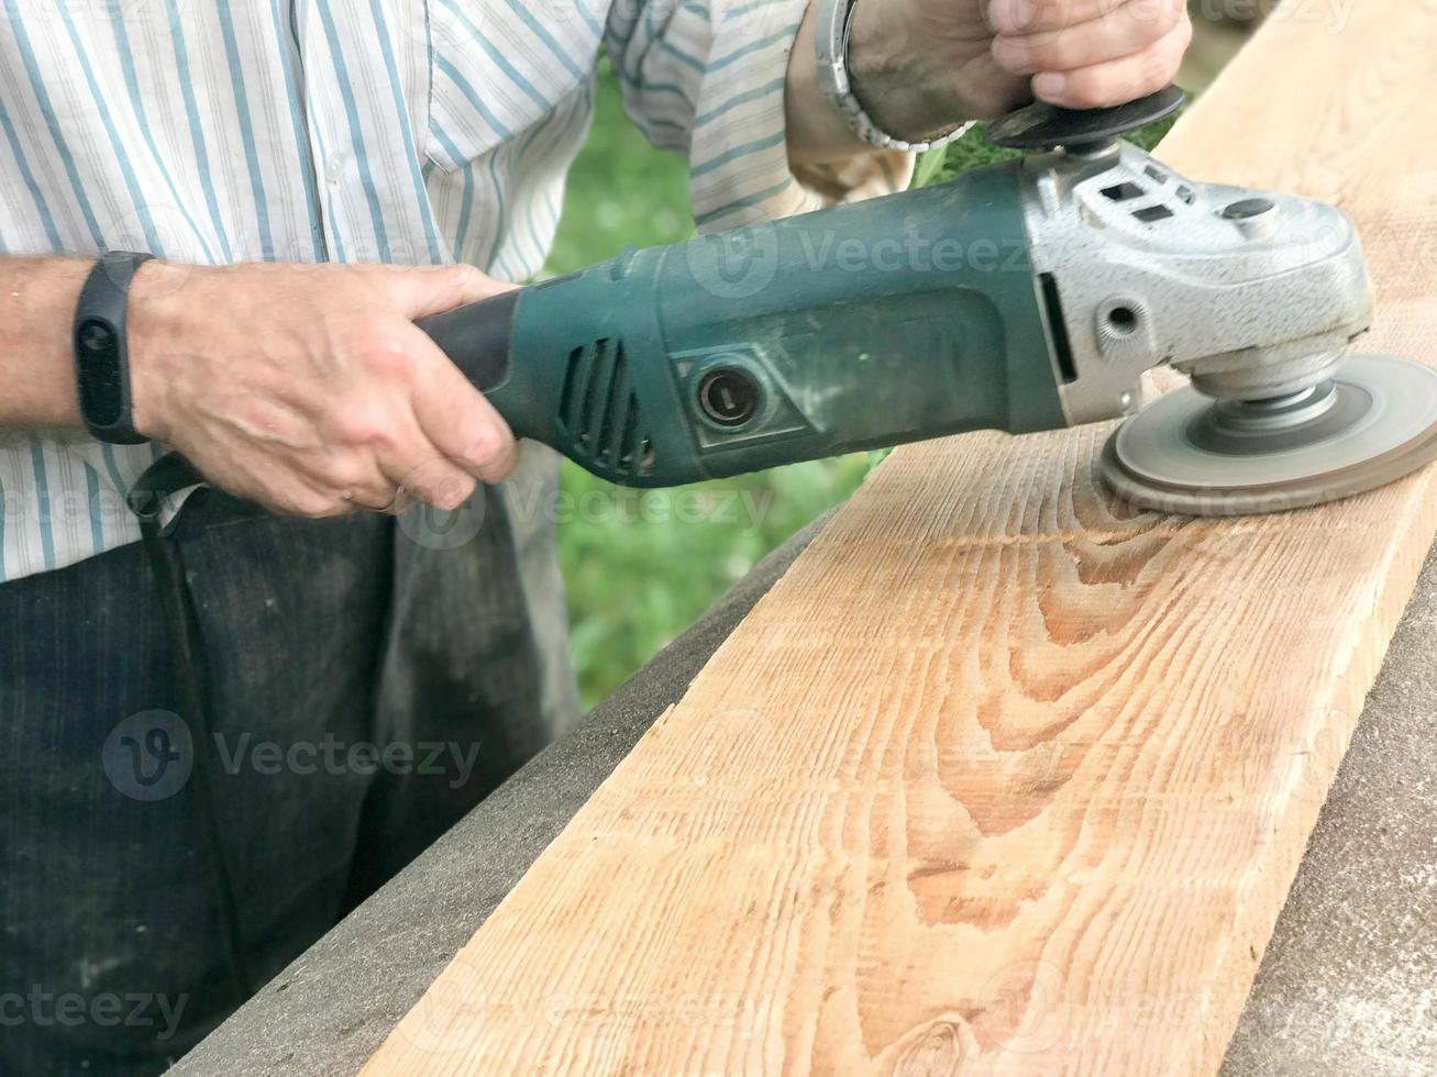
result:
[[[0,1074],[160,1073],[572,715],[525,467],[477,530],[191,497],[198,708],[154,550],[0,586]]]

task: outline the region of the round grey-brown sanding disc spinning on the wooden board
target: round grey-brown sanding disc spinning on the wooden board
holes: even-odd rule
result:
[[[1437,370],[1355,355],[1290,398],[1170,392],[1108,438],[1104,480],[1165,513],[1252,516],[1335,501],[1437,458]]]

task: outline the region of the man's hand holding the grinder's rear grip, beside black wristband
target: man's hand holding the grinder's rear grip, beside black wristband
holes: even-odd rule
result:
[[[506,287],[468,266],[147,263],[126,316],[135,428],[282,513],[401,491],[456,508],[513,470],[514,438],[412,322]]]

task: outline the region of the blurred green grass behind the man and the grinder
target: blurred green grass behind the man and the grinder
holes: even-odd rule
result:
[[[1144,131],[1152,145],[1168,122]],[[938,182],[1010,151],[973,131],[918,164]],[[673,243],[694,231],[683,158],[655,151],[628,122],[618,86],[601,79],[593,129],[569,175],[563,218],[545,274]],[[703,482],[680,491],[616,491],[565,461],[559,560],[569,587],[570,643],[585,707],[688,628],[775,546],[839,504],[864,481],[862,454]]]

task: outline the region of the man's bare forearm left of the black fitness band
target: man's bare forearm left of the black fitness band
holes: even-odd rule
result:
[[[93,258],[0,257],[0,426],[79,426],[70,329]]]

